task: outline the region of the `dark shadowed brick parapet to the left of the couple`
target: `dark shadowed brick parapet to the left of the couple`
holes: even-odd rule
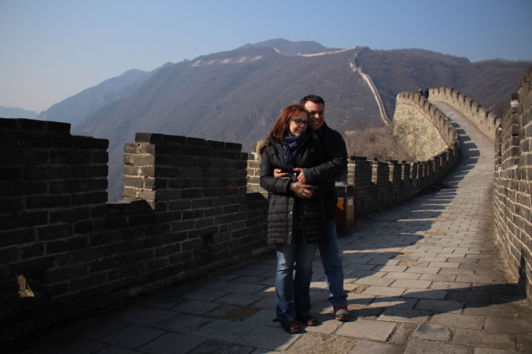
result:
[[[271,250],[240,145],[138,134],[126,198],[107,203],[107,140],[0,119],[0,144],[0,341]]]

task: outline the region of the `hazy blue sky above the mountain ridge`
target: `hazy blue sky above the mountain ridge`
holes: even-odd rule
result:
[[[532,0],[0,0],[0,106],[272,38],[532,60]]]

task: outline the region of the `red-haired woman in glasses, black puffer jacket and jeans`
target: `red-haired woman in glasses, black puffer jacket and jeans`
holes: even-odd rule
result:
[[[299,105],[287,106],[277,118],[261,154],[261,187],[271,193],[268,208],[268,243],[277,246],[277,319],[288,333],[318,321],[311,309],[312,258],[318,242],[327,241],[321,195],[326,185],[296,182],[296,167],[314,167],[325,160],[318,137],[307,131],[309,115]],[[273,177],[280,168],[292,178]],[[298,188],[308,188],[296,197]]]

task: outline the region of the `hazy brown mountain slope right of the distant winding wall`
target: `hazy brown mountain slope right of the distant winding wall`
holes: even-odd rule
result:
[[[530,62],[490,60],[471,63],[420,49],[361,50],[356,66],[372,77],[388,116],[394,116],[395,96],[427,87],[448,86],[501,115]]]

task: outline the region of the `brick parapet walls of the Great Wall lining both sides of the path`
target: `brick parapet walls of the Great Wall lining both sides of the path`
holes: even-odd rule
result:
[[[528,70],[503,117],[448,87],[430,89],[429,100],[399,95],[394,120],[430,122],[427,136],[436,129],[440,137],[434,156],[416,163],[352,157],[337,185],[346,200],[343,232],[454,167],[458,135],[430,101],[444,102],[494,142],[494,232],[529,295],[531,78]],[[107,203],[107,140],[28,119],[0,119],[0,135],[0,342],[271,252],[258,162],[239,144],[138,133],[125,147],[125,198]],[[412,140],[413,149],[426,147]]]

